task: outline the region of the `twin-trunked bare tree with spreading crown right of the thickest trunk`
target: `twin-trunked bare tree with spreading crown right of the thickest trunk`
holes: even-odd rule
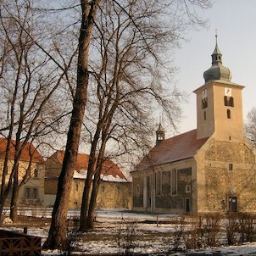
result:
[[[106,149],[115,146],[112,156],[124,156],[148,146],[156,105],[164,109],[173,128],[181,114],[181,93],[168,83],[169,88],[164,86],[164,80],[173,75],[164,55],[181,40],[187,23],[184,18],[182,22],[168,19],[174,17],[168,8],[169,3],[155,1],[102,1],[100,6],[92,41],[93,79],[85,121],[92,147],[81,203],[81,231],[93,228]],[[191,14],[186,4],[185,11]]]

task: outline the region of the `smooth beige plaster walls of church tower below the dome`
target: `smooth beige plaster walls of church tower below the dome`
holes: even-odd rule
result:
[[[231,90],[233,106],[225,106],[225,89]],[[211,81],[199,87],[197,93],[198,138],[215,136],[219,141],[242,142],[242,89],[243,86],[231,82]],[[205,94],[206,93],[206,94]],[[207,107],[203,101],[207,101]],[[227,118],[227,110],[231,118]]]

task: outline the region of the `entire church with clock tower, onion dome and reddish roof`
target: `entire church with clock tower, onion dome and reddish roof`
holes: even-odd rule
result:
[[[243,133],[242,89],[216,46],[197,96],[197,129],[164,138],[132,175],[132,209],[159,214],[256,212],[256,151]]]

